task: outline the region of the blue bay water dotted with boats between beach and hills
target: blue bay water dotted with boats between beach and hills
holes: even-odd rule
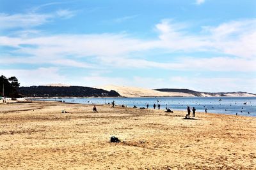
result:
[[[184,110],[190,106],[191,110],[195,107],[196,111],[207,113],[221,113],[228,115],[243,115],[256,117],[256,97],[89,97],[89,98],[58,98],[44,99],[47,101],[65,101],[66,103],[81,103],[81,104],[105,104],[115,101],[115,104],[128,107],[134,105],[138,108],[146,107],[153,108],[153,104],[160,104],[161,110],[170,108],[171,110]],[[244,104],[246,103],[246,104]]]

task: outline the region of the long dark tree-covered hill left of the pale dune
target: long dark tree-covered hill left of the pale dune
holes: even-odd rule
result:
[[[25,97],[119,97],[114,90],[102,90],[81,86],[31,86],[20,87],[19,94]]]

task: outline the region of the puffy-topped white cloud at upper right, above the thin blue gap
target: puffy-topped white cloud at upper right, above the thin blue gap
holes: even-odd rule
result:
[[[160,32],[159,45],[171,51],[216,51],[237,57],[256,56],[255,19],[203,27],[200,34],[186,32],[186,25],[172,24],[170,20],[162,20],[156,29]]]

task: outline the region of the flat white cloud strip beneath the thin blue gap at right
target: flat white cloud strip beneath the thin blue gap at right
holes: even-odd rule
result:
[[[232,57],[180,57],[175,62],[156,62],[145,59],[127,59],[125,57],[107,59],[102,57],[102,62],[111,67],[132,67],[132,68],[161,68],[176,71],[256,71],[256,59],[239,59]]]

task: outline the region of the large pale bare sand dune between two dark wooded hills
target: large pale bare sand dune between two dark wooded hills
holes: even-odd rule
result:
[[[96,87],[103,90],[115,90],[123,97],[172,97],[172,96],[184,96],[193,97],[192,94],[180,93],[180,92],[159,92],[157,90],[145,89],[140,87],[125,87],[117,85],[106,85],[102,87]]]

